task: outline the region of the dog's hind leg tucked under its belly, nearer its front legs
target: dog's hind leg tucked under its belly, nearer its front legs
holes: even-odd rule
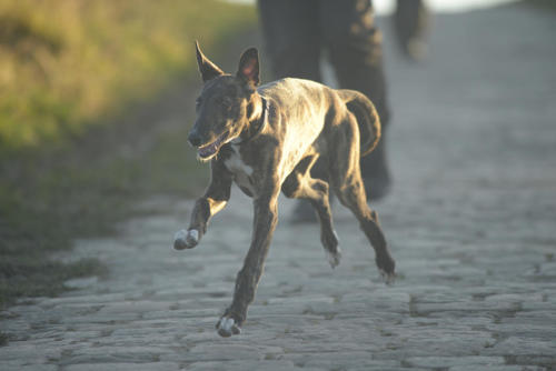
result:
[[[338,235],[332,227],[332,215],[328,198],[328,183],[310,177],[310,169],[317,156],[309,156],[301,160],[281,186],[288,198],[309,200],[317,212],[320,222],[320,241],[325,248],[330,267],[340,263],[341,250],[338,247]]]

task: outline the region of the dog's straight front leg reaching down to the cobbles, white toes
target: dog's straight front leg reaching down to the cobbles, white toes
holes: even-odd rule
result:
[[[262,274],[265,259],[278,221],[278,191],[270,197],[255,200],[254,234],[244,268],[236,279],[234,301],[217,323],[221,337],[238,334],[247,318],[247,308],[255,299],[255,291]]]

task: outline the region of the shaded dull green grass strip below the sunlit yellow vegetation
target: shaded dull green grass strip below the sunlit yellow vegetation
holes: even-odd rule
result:
[[[91,133],[91,142],[115,130]],[[16,161],[19,177],[0,186],[0,308],[20,297],[56,295],[70,278],[106,274],[96,260],[64,264],[49,255],[71,249],[76,237],[112,233],[152,193],[188,198],[200,191],[206,169],[180,136],[150,134],[155,144],[137,153],[118,153],[118,142],[102,144],[107,157],[73,144]]]

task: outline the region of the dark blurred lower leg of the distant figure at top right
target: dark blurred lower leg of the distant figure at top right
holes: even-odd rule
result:
[[[423,0],[398,0],[394,29],[401,52],[410,60],[420,61],[427,54],[428,18]]]

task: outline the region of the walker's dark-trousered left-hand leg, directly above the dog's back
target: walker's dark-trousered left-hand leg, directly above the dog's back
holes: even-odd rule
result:
[[[320,81],[318,4],[317,0],[258,0],[265,49],[275,79]]]

